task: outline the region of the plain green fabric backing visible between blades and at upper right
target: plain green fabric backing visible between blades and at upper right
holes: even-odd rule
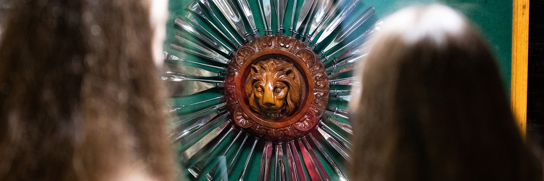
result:
[[[210,3],[212,3],[211,0],[209,0],[209,1],[210,1]],[[235,6],[238,8],[238,5],[237,5],[236,1],[233,1],[233,2],[235,4]],[[285,20],[284,20],[284,23],[283,23],[283,27],[285,28],[284,35],[288,34],[287,30],[289,29],[289,25],[290,25],[293,2],[294,2],[294,0],[289,0],[288,4],[287,4]],[[303,2],[304,2],[304,0],[297,0],[297,8],[298,9],[300,9]],[[182,33],[184,35],[188,34],[188,33],[184,32],[184,30],[182,30],[181,28],[175,26],[175,24],[174,24],[174,21],[176,20],[176,17],[178,17],[178,16],[183,17],[187,13],[187,9],[185,9],[185,6],[188,3],[190,3],[189,0],[170,0],[169,1],[169,13],[170,14],[169,14],[168,21],[166,23],[166,40],[164,41],[164,51],[169,52],[171,54],[174,54],[177,57],[182,58],[182,59],[198,61],[200,63],[206,63],[206,64],[210,64],[210,65],[214,65],[214,66],[226,66],[225,64],[217,63],[217,62],[214,62],[214,61],[211,61],[211,60],[205,60],[205,59],[202,59],[202,58],[199,58],[199,57],[195,57],[195,56],[192,56],[192,55],[180,53],[180,52],[177,52],[177,51],[174,51],[174,50],[170,49],[170,43],[172,41],[177,41],[174,38],[175,33]],[[249,1],[249,3],[250,3],[250,8],[251,8],[251,10],[253,11],[253,14],[254,14],[255,24],[257,26],[257,29],[259,29],[259,34],[263,35],[264,34],[264,32],[263,32],[263,23],[262,23],[261,14],[260,14],[260,11],[259,11],[259,8],[258,8],[258,1],[252,0],[252,1]],[[348,18],[346,20],[344,20],[344,23],[341,24],[340,26],[345,27],[346,24],[349,24],[349,22],[353,21],[353,19],[356,16],[358,16],[358,14],[360,14],[362,11],[364,11],[369,6],[373,6],[375,8],[375,10],[376,10],[376,15],[371,17],[369,22],[375,22],[379,18],[383,18],[383,17],[385,17],[387,15],[390,15],[394,11],[399,10],[401,8],[404,8],[404,7],[407,7],[409,5],[424,5],[424,4],[431,4],[431,3],[442,3],[442,4],[449,5],[450,7],[453,7],[456,10],[459,10],[461,13],[465,14],[465,16],[467,16],[469,18],[469,20],[471,20],[475,24],[475,26],[477,26],[477,27],[479,27],[481,29],[484,36],[490,42],[491,49],[496,54],[496,57],[498,59],[498,66],[499,66],[499,69],[500,69],[500,71],[502,73],[504,83],[506,85],[506,90],[510,91],[509,86],[510,86],[510,75],[511,75],[511,63],[510,63],[511,60],[510,60],[510,57],[511,57],[511,17],[512,17],[512,10],[511,10],[512,9],[512,3],[511,3],[511,1],[504,1],[504,0],[500,0],[500,1],[491,1],[491,0],[479,0],[479,1],[466,1],[466,0],[456,0],[456,1],[454,1],[454,0],[442,0],[442,1],[387,0],[386,1],[386,0],[380,0],[380,1],[372,1],[372,2],[371,1],[362,1],[361,3],[359,3],[357,5],[357,7],[351,13],[351,15],[348,16]],[[276,14],[275,14],[275,11],[274,11],[273,0],[271,0],[271,5],[273,7],[272,8],[273,9],[273,11],[272,11],[272,20],[273,20],[272,29],[273,29],[273,34],[276,34],[276,30],[277,30],[277,28],[276,28]],[[212,6],[214,6],[214,5],[212,5]],[[201,5],[201,7],[205,8],[203,5]],[[243,42],[243,39],[238,35],[238,33],[236,31],[234,31],[234,29],[230,26],[230,23],[228,23],[226,21],[226,19],[222,16],[219,9],[214,7],[214,11],[219,16],[221,21],[225,24],[225,26],[227,26],[227,28],[232,32],[232,34],[238,38],[238,41]],[[239,12],[241,12],[241,11],[239,11]],[[207,12],[205,14],[207,15],[208,18],[213,19],[211,14],[208,14]],[[243,16],[243,14],[241,14],[241,13],[240,13],[240,15]],[[296,16],[298,16],[298,13],[295,14],[295,21],[296,21]],[[195,18],[197,20],[199,20],[200,24],[204,28],[206,28],[209,32],[214,33],[214,36],[218,37],[220,40],[222,40],[222,42],[229,45],[228,41],[226,41],[225,38],[223,38],[220,34],[215,33],[215,29],[213,27],[208,26],[207,23],[205,23],[203,20],[201,20],[200,17],[195,16]],[[216,22],[215,20],[212,20],[212,21]],[[244,21],[244,23],[246,25],[248,24],[248,23],[246,23],[245,19],[243,21]],[[354,38],[355,36],[358,36],[358,35],[362,34],[364,32],[364,30],[366,30],[371,25],[372,25],[371,23],[363,24],[363,26],[361,26],[359,29],[357,29],[356,30],[357,32],[353,33],[350,36],[350,38]],[[217,26],[220,29],[222,29],[222,27],[219,24],[217,24]],[[337,28],[337,30],[335,30],[333,35],[335,35],[335,33],[338,33],[340,30],[342,30],[341,27]],[[245,28],[246,28],[246,30],[248,30],[248,32],[250,32],[251,29],[250,29],[249,26],[246,26]],[[360,32],[360,33],[358,33],[358,32]],[[225,32],[225,34],[228,36],[228,33]],[[330,40],[330,39],[331,38],[329,38],[328,40]],[[325,40],[325,41],[327,41],[327,40]],[[179,41],[177,41],[177,42],[179,42]],[[231,48],[235,48],[235,47],[232,46]],[[216,70],[214,68],[209,68],[209,67],[200,66],[200,65],[194,65],[194,64],[190,64],[190,63],[177,63],[176,61],[168,61],[168,63],[183,64],[183,65],[201,67],[201,68],[204,68],[204,69],[209,70],[209,71],[219,72],[219,70]],[[339,78],[350,77],[351,76],[350,74],[351,74],[351,72],[341,73],[341,74],[339,74]],[[331,86],[331,89],[349,90],[349,86],[334,85],[334,86]],[[187,105],[187,104],[190,104],[190,103],[200,102],[200,101],[204,101],[206,99],[218,97],[218,96],[221,96],[222,94],[224,94],[222,92],[222,89],[215,88],[215,89],[211,89],[211,90],[207,90],[207,91],[197,93],[195,95],[170,98],[169,102],[172,105]],[[181,111],[177,111],[174,116],[183,116],[183,115],[187,115],[187,114],[190,114],[190,113],[194,113],[194,111],[201,110],[201,109],[210,107],[211,105],[215,105],[215,104],[218,104],[218,103],[220,103],[220,101],[215,100],[215,101],[208,102],[208,103],[194,105],[192,107],[187,107],[187,108],[184,108]],[[336,98],[330,98],[329,99],[329,105],[338,106],[341,109],[347,109],[347,102],[342,101],[342,100],[337,100]],[[348,133],[346,133],[342,129],[332,125],[329,121],[326,120],[326,117],[324,117],[324,119],[325,119],[325,123],[329,124],[330,127],[333,130],[335,130],[335,132],[337,132],[337,133],[339,133],[339,134],[341,134],[341,135],[343,135],[345,137],[349,137]],[[337,120],[348,123],[347,120],[342,120],[340,118],[337,118]],[[217,126],[219,126],[219,124]],[[212,129],[208,130],[208,132],[211,131],[211,130]],[[200,138],[202,138],[208,132],[200,135]],[[226,132],[226,130],[225,130],[225,132]],[[234,157],[234,154],[238,150],[238,148],[240,146],[240,143],[242,142],[242,139],[244,137],[244,134],[242,134],[240,136],[238,141],[236,143],[234,143],[234,145],[232,146],[230,151],[226,154],[226,161],[221,160],[220,156],[225,151],[225,149],[228,147],[228,144],[230,142],[232,142],[232,140],[234,139],[236,134],[238,134],[238,132],[236,132],[236,131],[234,131],[233,133],[230,133],[230,135],[228,135],[227,139],[224,142],[220,143],[220,146],[218,147],[218,149],[215,150],[213,152],[213,154],[212,154],[212,157],[210,157],[208,159],[208,164],[204,169],[205,171],[211,170],[212,167],[215,165],[215,163],[218,163],[218,162],[220,163],[219,164],[220,165],[219,166],[220,170],[222,170],[222,171],[226,170],[226,167],[228,166],[228,164],[230,164],[231,159]],[[319,140],[319,142],[321,143],[321,145],[323,145],[326,152],[329,153],[329,155],[331,156],[331,158],[333,160],[335,160],[336,164],[340,167],[340,169],[344,172],[344,174],[347,174],[347,170],[346,170],[345,166],[343,165],[345,159],[340,154],[338,154],[338,152],[336,152],[336,150],[334,148],[332,148],[323,139],[323,137],[321,135],[319,135],[318,132],[315,132],[315,133],[312,133],[312,134],[314,135],[314,137],[316,139]],[[218,137],[220,137],[220,136],[222,136],[222,135],[219,135]],[[212,141],[210,144],[208,144],[204,149],[202,149],[201,152],[199,152],[199,154],[197,154],[195,156],[195,158],[196,157],[203,157],[203,155],[205,155],[207,153],[206,151],[211,149],[212,146],[214,145],[214,143],[218,139],[216,139],[216,140]],[[177,143],[177,145],[176,145],[177,153],[181,154],[183,151],[185,151],[187,148],[189,148],[194,142],[196,142],[196,140],[189,142],[187,145],[181,145],[180,143]],[[245,164],[245,160],[248,157],[248,154],[250,152],[250,148],[251,148],[251,145],[253,144],[253,142],[254,142],[254,138],[251,138],[251,137],[249,137],[246,140],[242,151],[238,155],[237,160],[234,162],[234,170],[232,171],[232,174],[230,175],[229,180],[237,180],[238,177],[240,176],[240,173],[242,173],[243,166]],[[312,148],[316,152],[320,162],[323,164],[323,166],[324,166],[325,170],[327,171],[327,173],[329,173],[329,176],[331,177],[331,179],[332,180],[339,180],[339,177],[332,170],[332,167],[329,165],[327,160],[318,151],[318,149],[313,145],[313,141],[311,139],[308,139],[308,142],[311,143]],[[298,143],[296,145],[297,145],[297,149],[299,149],[298,148]],[[255,151],[252,154],[252,157],[251,157],[251,159],[249,161],[248,169],[246,170],[246,173],[245,173],[245,177],[244,177],[245,180],[256,180],[257,179],[258,169],[259,169],[259,166],[260,166],[260,160],[261,160],[261,156],[262,156],[262,152],[263,152],[263,146],[264,146],[263,141],[259,141],[257,143]],[[283,146],[284,154],[286,154],[286,152],[285,152],[286,145],[283,144],[282,146]],[[299,150],[299,152],[300,152],[300,150]],[[299,157],[302,159],[302,155],[299,154]],[[274,155],[273,155],[271,163],[275,163],[274,161],[275,160],[274,160]],[[178,159],[178,163],[181,166],[185,166],[183,163],[181,163],[180,159]],[[304,162],[302,163],[302,167],[304,167],[304,170],[306,172],[306,167],[304,165]],[[273,174],[274,174],[274,165],[273,164],[271,165],[271,169],[272,170],[270,171],[270,174],[271,174],[271,176],[273,176]],[[185,168],[182,168],[180,175],[181,175],[180,180],[206,180],[206,178],[203,177],[203,176],[195,179],[193,176],[191,176],[191,174]],[[306,177],[307,177],[307,179],[310,179],[310,176],[307,173],[306,173]]]

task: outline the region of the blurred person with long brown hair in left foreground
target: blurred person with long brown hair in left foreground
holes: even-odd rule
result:
[[[152,48],[165,3],[13,1],[0,40],[0,180],[174,179]]]

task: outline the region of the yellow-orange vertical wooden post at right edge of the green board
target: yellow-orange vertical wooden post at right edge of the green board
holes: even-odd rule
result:
[[[529,46],[529,0],[513,0],[512,80],[510,104],[525,139],[527,128],[527,66]]]

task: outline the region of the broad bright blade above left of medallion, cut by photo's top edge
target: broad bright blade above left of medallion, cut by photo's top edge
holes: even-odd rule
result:
[[[251,41],[252,38],[249,36],[249,33],[245,30],[244,22],[242,22],[242,18],[240,17],[240,14],[238,14],[238,11],[234,9],[234,5],[228,1],[228,0],[212,0],[213,3],[219,8],[221,13],[225,15],[227,18],[227,21],[231,23],[231,26],[238,32],[242,38],[244,38],[247,41]]]

